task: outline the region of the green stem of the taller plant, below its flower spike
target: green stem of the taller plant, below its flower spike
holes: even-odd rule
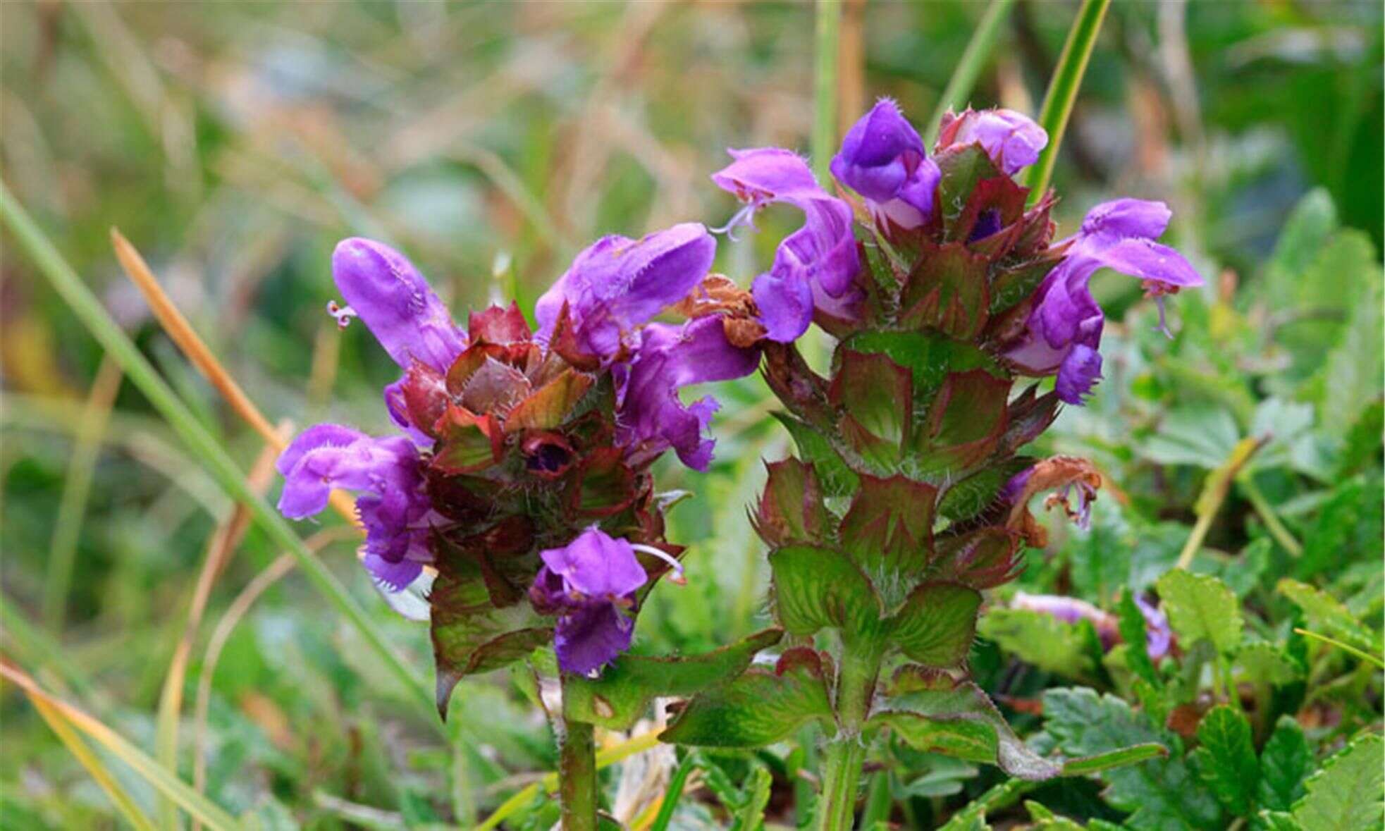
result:
[[[848,643],[837,677],[837,737],[827,747],[823,795],[817,803],[817,831],[849,831],[856,817],[856,789],[866,762],[863,729],[870,716],[879,651]]]

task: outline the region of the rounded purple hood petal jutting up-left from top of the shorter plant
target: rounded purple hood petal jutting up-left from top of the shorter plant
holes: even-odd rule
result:
[[[332,252],[337,288],[385,348],[409,368],[413,359],[446,373],[467,334],[402,253],[371,240],[342,240]]]

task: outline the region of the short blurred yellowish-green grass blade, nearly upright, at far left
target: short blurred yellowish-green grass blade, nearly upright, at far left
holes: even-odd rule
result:
[[[53,633],[61,633],[66,619],[68,590],[72,586],[82,521],[91,493],[91,475],[101,456],[105,424],[119,389],[120,364],[107,356],[101,359],[96,381],[91,382],[91,392],[87,393],[86,406],[82,407],[82,421],[78,424],[58,515],[53,525],[53,542],[48,546],[48,571],[43,583],[43,625]]]

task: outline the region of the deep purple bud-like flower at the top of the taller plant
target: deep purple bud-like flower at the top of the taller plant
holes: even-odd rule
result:
[[[911,230],[932,215],[942,173],[899,105],[881,98],[846,132],[832,176],[866,198],[877,223]]]

